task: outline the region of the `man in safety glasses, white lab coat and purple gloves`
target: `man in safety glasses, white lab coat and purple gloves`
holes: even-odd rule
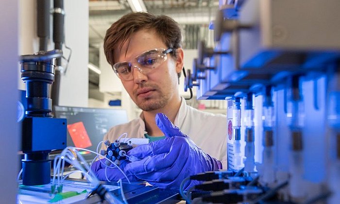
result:
[[[131,179],[178,189],[189,175],[222,169],[221,162],[226,169],[226,117],[198,111],[179,95],[184,53],[181,30],[173,19],[127,14],[107,30],[104,51],[131,99],[143,110],[140,118],[113,127],[104,140],[113,142],[127,133],[152,141],[127,153],[137,161],[121,162],[120,168]],[[92,169],[102,180],[124,178],[99,161]]]

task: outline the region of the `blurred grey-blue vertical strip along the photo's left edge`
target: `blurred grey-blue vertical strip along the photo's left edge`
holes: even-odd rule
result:
[[[1,203],[16,203],[17,151],[17,67],[18,1],[1,0],[0,12],[0,192]]]

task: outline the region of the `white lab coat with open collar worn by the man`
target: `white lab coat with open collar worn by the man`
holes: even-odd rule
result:
[[[181,106],[174,121],[174,125],[189,136],[205,153],[222,162],[223,169],[227,169],[227,119],[222,114],[212,114],[199,111],[185,102],[182,98]],[[104,136],[104,140],[113,142],[121,134],[127,133],[129,138],[145,138],[145,123],[143,114],[138,119],[114,126]]]

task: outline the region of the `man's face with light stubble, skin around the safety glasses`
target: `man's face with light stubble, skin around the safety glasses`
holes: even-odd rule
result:
[[[133,34],[130,42],[123,44],[121,50],[114,51],[114,59],[116,63],[127,61],[138,67],[136,56],[158,48],[168,49],[153,30],[141,30]],[[124,88],[140,109],[157,110],[179,97],[177,73],[183,68],[183,51],[180,49],[180,52],[177,59],[167,54],[167,59],[147,74],[132,68],[133,80],[121,79]]]

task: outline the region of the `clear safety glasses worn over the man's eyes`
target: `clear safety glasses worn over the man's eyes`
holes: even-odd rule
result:
[[[172,48],[167,50],[163,48],[146,51],[136,56],[134,65],[132,62],[119,62],[112,66],[118,77],[122,80],[133,80],[133,68],[137,68],[143,74],[148,74],[151,70],[158,68],[164,61],[167,60],[167,54],[172,51]]]

